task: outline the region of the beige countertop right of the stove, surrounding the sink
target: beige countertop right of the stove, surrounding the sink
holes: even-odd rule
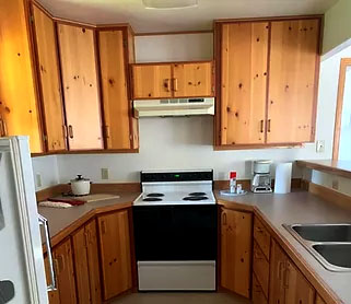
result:
[[[306,191],[297,191],[288,195],[274,194],[248,194],[239,197],[226,197],[215,194],[218,202],[224,206],[254,208],[268,224],[289,243],[302,262],[312,269],[318,281],[327,287],[346,304],[351,304],[351,272],[331,272],[326,270],[303,247],[282,224],[293,223],[350,223],[351,211],[344,210],[330,202],[324,201]]]

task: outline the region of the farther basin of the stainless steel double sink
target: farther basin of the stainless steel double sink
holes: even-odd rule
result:
[[[311,242],[351,242],[351,224],[296,224],[292,229]]]

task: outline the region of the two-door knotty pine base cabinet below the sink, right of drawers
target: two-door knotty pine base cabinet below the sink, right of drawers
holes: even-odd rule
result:
[[[315,290],[280,248],[276,241],[271,248],[270,304],[314,304]]]

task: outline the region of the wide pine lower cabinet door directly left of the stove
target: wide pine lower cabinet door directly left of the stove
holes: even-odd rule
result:
[[[131,289],[128,211],[98,218],[104,300]]]

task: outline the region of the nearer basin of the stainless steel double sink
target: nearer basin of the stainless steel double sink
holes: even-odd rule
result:
[[[318,244],[312,247],[329,264],[351,269],[351,244]]]

